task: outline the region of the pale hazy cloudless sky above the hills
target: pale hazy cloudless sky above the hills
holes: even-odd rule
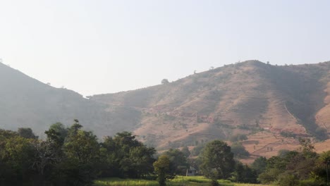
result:
[[[228,63],[330,60],[330,1],[0,0],[0,58],[102,94]]]

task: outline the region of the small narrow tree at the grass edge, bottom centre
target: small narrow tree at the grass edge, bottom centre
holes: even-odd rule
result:
[[[160,186],[166,185],[167,179],[172,179],[173,175],[170,173],[171,161],[168,156],[161,155],[158,160],[153,163],[154,171],[157,173],[157,180]]]

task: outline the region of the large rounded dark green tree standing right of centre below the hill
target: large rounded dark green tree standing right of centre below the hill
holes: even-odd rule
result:
[[[227,179],[234,171],[235,161],[231,147],[223,141],[209,142],[202,151],[202,173],[212,180]]]

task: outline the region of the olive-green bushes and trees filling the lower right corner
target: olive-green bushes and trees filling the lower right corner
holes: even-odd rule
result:
[[[252,163],[258,180],[276,185],[329,185],[330,151],[317,154],[307,139],[300,139],[299,151],[279,151],[270,159],[259,157]]]

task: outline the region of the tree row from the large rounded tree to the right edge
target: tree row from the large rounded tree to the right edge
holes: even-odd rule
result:
[[[214,146],[215,143],[218,145]],[[233,162],[230,158],[233,154],[226,148],[221,141],[209,142],[203,149],[197,148],[199,156],[195,159],[195,167],[211,178],[213,185],[217,185],[215,180],[220,178],[281,186],[330,184],[330,151],[317,154],[308,139],[300,139],[300,149],[296,151],[281,150],[278,156],[269,159],[261,156],[250,166],[237,160]],[[235,145],[230,151],[236,153]],[[192,154],[196,154],[196,151],[192,151]],[[236,157],[240,156],[236,154]]]

